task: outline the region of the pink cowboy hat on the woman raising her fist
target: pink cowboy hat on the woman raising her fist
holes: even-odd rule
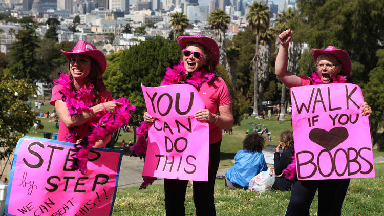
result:
[[[312,49],[312,57],[316,62],[318,56],[322,54],[330,54],[335,56],[342,64],[342,74],[349,76],[352,70],[351,58],[345,50],[338,50],[333,46],[328,46],[325,50]]]

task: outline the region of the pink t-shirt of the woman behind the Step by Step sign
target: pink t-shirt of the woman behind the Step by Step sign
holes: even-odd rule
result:
[[[49,101],[49,103],[51,105],[55,105],[55,102],[56,100],[62,100],[62,95],[60,93],[60,91],[63,89],[63,86],[58,84],[58,85],[55,85],[52,89],[52,98],[51,98],[51,101]],[[112,94],[109,92],[109,91],[102,91],[101,92],[101,102],[107,102],[107,101],[111,101],[112,100]],[[67,134],[69,133],[69,128],[61,121],[61,118],[60,118],[60,126],[59,126],[59,133],[57,134],[57,140],[59,141],[67,141],[65,139],[65,137],[67,136]],[[90,131],[80,131],[79,132],[80,134],[80,137],[79,139],[82,139],[84,136],[88,136],[91,132]]]

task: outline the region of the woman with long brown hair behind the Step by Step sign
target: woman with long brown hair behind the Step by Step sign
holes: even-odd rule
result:
[[[91,133],[90,125],[97,122],[101,114],[121,103],[111,101],[112,95],[104,87],[101,75],[106,69],[106,59],[100,50],[79,40],[72,52],[61,52],[69,60],[69,75],[60,73],[50,104],[60,117],[57,140],[76,143]],[[81,106],[90,109],[81,109]],[[105,136],[95,147],[105,147],[110,139],[111,135]]]

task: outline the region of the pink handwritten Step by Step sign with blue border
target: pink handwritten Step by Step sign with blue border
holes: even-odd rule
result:
[[[73,143],[23,137],[17,143],[6,215],[112,215],[122,151],[92,148],[88,172],[73,171]]]

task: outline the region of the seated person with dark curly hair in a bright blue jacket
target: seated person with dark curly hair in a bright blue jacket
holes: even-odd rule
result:
[[[234,165],[226,172],[225,185],[231,190],[248,189],[249,181],[261,171],[267,171],[267,163],[261,152],[264,137],[257,132],[248,134],[243,140],[243,150],[234,156]]]

